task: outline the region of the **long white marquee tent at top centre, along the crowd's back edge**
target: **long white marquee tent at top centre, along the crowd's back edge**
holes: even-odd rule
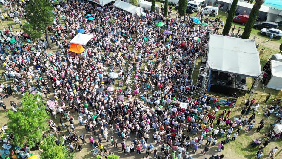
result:
[[[136,7],[132,4],[126,3],[126,2],[121,1],[121,0],[115,1],[114,7],[120,8],[122,10],[125,10],[125,11],[131,13],[131,16],[134,16],[135,13],[137,13],[137,15],[140,16],[141,12],[143,12],[142,8]]]

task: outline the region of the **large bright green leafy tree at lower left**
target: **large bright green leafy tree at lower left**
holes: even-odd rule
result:
[[[42,139],[42,131],[47,130],[46,119],[48,115],[46,107],[42,102],[41,96],[26,93],[21,97],[22,109],[17,112],[8,110],[8,127],[7,134],[14,135],[10,140],[12,144],[24,146],[28,144],[34,147],[34,142]]]

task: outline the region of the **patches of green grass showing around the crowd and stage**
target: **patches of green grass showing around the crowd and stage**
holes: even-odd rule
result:
[[[161,6],[161,5],[160,5],[160,4],[161,4],[160,1],[157,1],[156,4],[158,4],[159,6]],[[174,15],[175,15],[175,13],[176,13],[176,10],[175,10],[174,7],[172,7],[172,8],[173,8],[173,9],[172,9],[172,14],[173,14],[173,17],[174,17]],[[193,13],[193,16],[195,16],[195,15],[196,15],[196,13]],[[219,16],[220,16],[222,19],[224,19],[224,21],[226,21],[226,18],[227,18],[227,14],[226,14],[226,13],[220,12],[217,17],[219,17]],[[24,23],[23,20],[22,20],[22,23]],[[4,25],[4,26],[13,25],[15,31],[16,31],[16,30],[18,30],[18,31],[21,30],[20,27],[19,27],[19,24],[15,25],[12,20],[4,21],[4,22],[3,22],[3,25]],[[242,30],[244,29],[244,26],[243,26],[243,25],[239,25],[239,24],[236,24],[236,23],[234,23],[234,25],[236,25],[236,28],[238,28],[239,26],[241,26],[241,27],[242,27]],[[0,27],[1,27],[1,25],[0,25]],[[222,31],[222,30],[220,30],[220,31]],[[256,35],[258,38],[262,38],[262,39],[268,39],[267,36],[265,36],[265,37],[264,37],[264,36],[261,36],[258,32],[259,32],[259,30],[252,29],[251,35]],[[27,43],[27,42],[24,42],[24,43]],[[277,43],[277,47],[279,47],[279,45],[280,45],[280,43],[281,43],[281,40],[279,40],[279,41],[278,41],[278,40],[277,40],[277,41],[274,41],[273,43],[275,43],[275,44]],[[269,43],[268,43],[268,44],[260,43],[260,44],[261,44],[260,48],[266,48],[266,50],[271,51],[272,54],[278,52],[277,49],[271,48],[270,46],[268,46]],[[133,49],[133,46],[130,46],[129,48],[130,48],[130,50],[132,50],[132,49]],[[58,49],[57,47],[53,47],[53,49],[52,49],[52,50],[48,50],[48,52],[49,52],[49,51],[50,51],[50,52],[51,52],[51,51],[56,51],[57,49]],[[127,61],[127,58],[125,58],[125,60]],[[128,61],[127,61],[127,62],[128,62]],[[263,65],[264,65],[265,62],[266,62],[265,60],[261,60],[261,66],[262,66],[262,67],[263,67]],[[144,63],[144,65],[147,65],[147,63]],[[194,70],[194,74],[193,74],[194,83],[197,82],[197,77],[198,77],[200,65],[201,65],[201,56],[196,60],[196,66],[195,66],[195,70]],[[142,66],[141,66],[141,68],[142,68]],[[4,70],[4,68],[0,68],[0,72],[2,72],[3,70]],[[134,71],[133,71],[133,74],[134,74]],[[133,79],[133,77],[132,77],[132,79]],[[116,80],[116,81],[118,81],[118,80]],[[6,83],[6,81],[5,81],[3,78],[0,80],[0,82],[1,82],[1,83]],[[251,78],[248,78],[248,79],[247,79],[247,82],[248,82],[248,87],[250,87],[250,86],[251,86],[251,83],[252,83],[252,79],[251,79]],[[114,87],[115,87],[115,88],[118,87],[118,82],[116,82],[116,84],[114,85]],[[126,86],[125,86],[125,83],[124,83],[124,86],[122,87],[122,89],[124,90],[125,87],[126,87]],[[265,90],[265,93],[271,92],[271,93],[273,94],[273,96],[271,97],[271,99],[274,98],[275,95],[276,95],[277,92],[278,92],[278,91],[276,91],[276,90],[269,89],[269,88],[265,88],[264,90]],[[261,85],[260,85],[260,86],[258,87],[256,93],[258,93],[258,94],[264,94],[264,90],[263,90],[263,88],[262,88]],[[214,94],[214,95],[215,95],[215,94]],[[220,94],[219,94],[219,95],[220,95]],[[50,95],[49,95],[49,96],[50,96]],[[18,99],[18,100],[19,100],[19,99]],[[269,101],[271,101],[271,100],[269,100]],[[8,103],[6,103],[6,104],[8,104]],[[224,108],[227,108],[227,107],[222,107],[219,112],[221,112]],[[241,109],[242,109],[242,108],[239,107],[239,108],[237,108],[237,110],[232,110],[230,117],[238,116],[238,115],[240,114],[240,112],[241,112]],[[260,111],[262,111],[262,110],[260,109]],[[218,114],[219,114],[219,113],[218,113]],[[218,114],[217,114],[217,117],[218,117]],[[1,116],[1,118],[0,118],[1,123],[0,123],[0,124],[3,125],[3,124],[5,124],[5,123],[7,123],[7,120],[8,120],[8,118],[7,118],[7,113],[1,111],[1,112],[0,112],[0,116]],[[244,128],[241,130],[240,135],[237,137],[237,139],[236,139],[235,141],[229,142],[229,143],[226,145],[224,151],[222,151],[222,154],[225,155],[225,158],[254,158],[255,153],[258,151],[258,149],[257,149],[257,148],[252,148],[252,147],[250,146],[250,143],[252,142],[253,139],[260,137],[261,134],[267,133],[268,130],[269,130],[268,123],[272,124],[272,123],[275,121],[275,118],[274,118],[273,116],[270,116],[270,117],[269,117],[269,120],[268,120],[268,118],[266,118],[266,117],[263,116],[262,114],[259,114],[259,115],[256,116],[256,119],[255,119],[255,120],[256,120],[256,123],[258,123],[261,119],[265,119],[265,120],[266,120],[266,125],[265,125],[265,127],[261,130],[261,132],[260,132],[260,133],[255,133],[254,130],[252,130],[251,132],[249,132],[249,133],[247,134],[247,133],[244,133],[244,129],[246,129],[246,127],[244,127]],[[58,123],[58,121],[57,121],[57,123]],[[255,126],[255,128],[256,128],[256,127],[257,127],[257,125]],[[254,129],[255,129],[255,128],[254,128]],[[235,131],[234,131],[234,132],[235,132]],[[225,139],[225,138],[226,138],[226,135],[224,135],[224,137],[219,137],[218,142],[221,141],[221,140],[223,140],[223,139]],[[270,143],[269,146],[266,147],[265,152],[263,153],[263,154],[264,154],[263,157],[265,158],[265,157],[266,157],[265,154],[267,154],[268,152],[270,152],[270,150],[271,150],[272,148],[274,148],[275,146],[281,145],[281,144],[282,144],[281,140],[277,140],[276,142]],[[86,148],[86,147],[87,147],[87,148]],[[77,157],[77,158],[79,158],[79,156],[80,156],[80,157],[82,156],[83,158],[91,158],[91,157],[93,157],[92,154],[90,154],[86,149],[91,149],[91,147],[89,148],[88,145],[85,146],[84,149],[83,149],[83,151],[82,151],[81,153],[79,153],[79,152],[76,152],[76,153],[75,153],[76,157]],[[210,151],[212,151],[212,153],[213,153],[213,150],[215,150],[215,147],[212,147]],[[281,152],[281,151],[279,151],[279,152],[276,154],[276,157],[277,157],[277,158],[282,158],[280,152]],[[36,153],[37,153],[37,152],[36,152]],[[193,156],[193,155],[192,155],[192,156]],[[135,156],[135,157],[136,157],[136,156]],[[138,157],[140,157],[140,156],[138,156]],[[207,156],[206,156],[206,157],[207,157]]]

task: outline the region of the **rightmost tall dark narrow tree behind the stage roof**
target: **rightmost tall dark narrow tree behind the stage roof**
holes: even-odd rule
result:
[[[261,8],[261,5],[264,3],[264,0],[255,0],[255,4],[251,10],[251,13],[249,15],[249,19],[246,23],[246,26],[244,28],[244,32],[241,36],[242,39],[249,39],[251,35],[252,28],[255,24],[255,21],[258,17],[259,9]]]

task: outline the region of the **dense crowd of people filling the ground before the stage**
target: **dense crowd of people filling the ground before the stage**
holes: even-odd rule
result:
[[[5,13],[12,15],[9,18],[16,19],[15,24],[20,17],[26,18],[24,1],[3,3]],[[224,145],[240,136],[244,126],[246,132],[255,128],[254,102],[247,102],[248,109],[242,110],[245,117],[233,119],[229,117],[232,110],[220,110],[216,98],[191,97],[195,89],[190,81],[195,56],[203,54],[207,32],[214,29],[212,32],[217,33],[224,25],[222,19],[208,19],[198,13],[201,22],[210,24],[204,27],[193,23],[191,15],[179,20],[177,15],[165,17],[146,11],[146,16],[137,17],[113,8],[112,4],[101,7],[88,1],[61,1],[54,4],[54,13],[53,25],[48,27],[52,35],[46,38],[60,48],[55,53],[47,53],[44,39],[24,45],[20,41],[28,39],[27,34],[13,33],[9,27],[1,32],[1,60],[5,68],[2,77],[11,84],[1,84],[0,95],[7,98],[13,92],[39,92],[52,100],[55,107],[46,105],[46,111],[52,114],[50,130],[43,138],[56,135],[57,144],[64,143],[71,151],[79,152],[84,143],[91,144],[100,149],[101,155],[115,153],[103,145],[110,142],[112,149],[121,147],[128,155],[142,153],[146,159],[151,153],[159,159],[192,159],[198,149],[205,155],[214,146],[218,155],[210,158],[220,159],[224,158]],[[87,14],[95,19],[87,20]],[[165,25],[157,27],[158,22]],[[78,29],[93,35],[86,55],[68,50],[67,37],[73,38]],[[12,39],[19,42],[11,42]],[[118,77],[111,78],[112,73]],[[116,87],[109,91],[112,86]],[[180,102],[188,106],[183,107]],[[10,104],[17,111],[16,103]],[[6,110],[3,101],[0,106]],[[251,108],[254,111],[248,114]],[[280,117],[281,110],[278,112]],[[277,123],[282,123],[281,117]],[[259,132],[264,121],[257,125]],[[85,132],[77,132],[78,126],[84,126]],[[257,156],[262,156],[263,148],[277,138],[280,133],[270,132],[262,140],[254,140],[254,147],[265,140]],[[272,149],[270,158],[274,158],[277,149]]]

